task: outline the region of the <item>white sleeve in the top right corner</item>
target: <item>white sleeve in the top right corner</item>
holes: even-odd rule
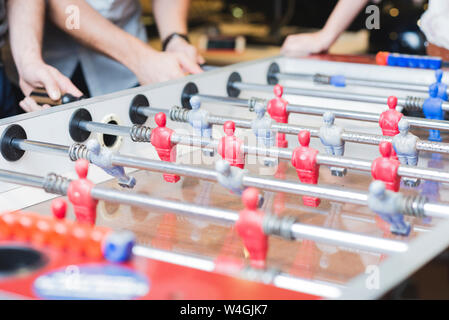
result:
[[[421,18],[421,30],[427,41],[449,50],[449,1],[429,0]]]

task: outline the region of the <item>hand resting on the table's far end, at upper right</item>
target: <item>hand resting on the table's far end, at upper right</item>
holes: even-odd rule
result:
[[[332,41],[323,31],[290,35],[285,39],[281,53],[288,57],[300,57],[329,50]]]

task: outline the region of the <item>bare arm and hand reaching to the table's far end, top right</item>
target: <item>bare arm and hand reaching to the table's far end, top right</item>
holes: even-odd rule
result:
[[[322,30],[288,36],[281,52],[287,56],[301,56],[327,51],[368,1],[340,0]]]

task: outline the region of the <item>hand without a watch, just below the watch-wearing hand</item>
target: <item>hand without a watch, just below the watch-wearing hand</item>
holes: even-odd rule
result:
[[[133,70],[141,85],[202,72],[196,60],[192,60],[186,52],[159,52],[147,47],[139,54],[136,62],[137,67]]]

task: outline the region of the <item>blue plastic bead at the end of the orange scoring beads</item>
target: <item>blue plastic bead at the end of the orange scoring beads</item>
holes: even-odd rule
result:
[[[136,237],[130,231],[115,231],[109,234],[103,246],[103,256],[111,262],[126,262],[132,257]]]

